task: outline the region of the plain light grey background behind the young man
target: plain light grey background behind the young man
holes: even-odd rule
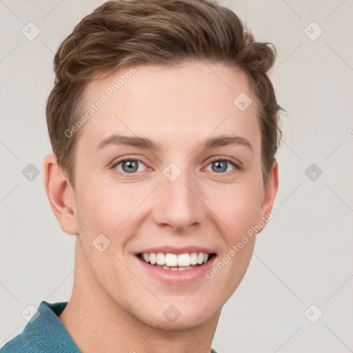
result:
[[[44,191],[42,160],[51,152],[44,107],[54,52],[101,3],[0,0],[0,346],[22,332],[28,305],[70,298],[74,236],[61,231]],[[212,346],[221,353],[353,352],[353,3],[220,3],[256,39],[276,46],[271,79],[288,112],[278,214],[258,237]],[[30,21],[40,30],[32,41],[21,33]],[[40,171],[32,181],[22,174],[30,163]],[[311,323],[319,310],[323,316]]]

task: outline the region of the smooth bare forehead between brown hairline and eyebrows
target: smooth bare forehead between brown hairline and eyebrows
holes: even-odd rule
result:
[[[122,68],[88,85],[83,114],[89,111],[79,143],[98,145],[114,133],[155,137],[165,146],[179,138],[259,134],[248,77],[221,63]]]

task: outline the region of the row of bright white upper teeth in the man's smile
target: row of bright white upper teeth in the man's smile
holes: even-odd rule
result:
[[[143,253],[142,259],[145,262],[150,262],[151,265],[157,263],[157,265],[167,266],[190,266],[190,265],[202,265],[208,261],[208,254],[205,252],[192,252],[190,254],[163,254],[163,252],[150,252]]]

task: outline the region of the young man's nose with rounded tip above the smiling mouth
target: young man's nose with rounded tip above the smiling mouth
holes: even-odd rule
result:
[[[170,181],[161,175],[161,186],[154,195],[154,222],[159,226],[170,226],[176,232],[186,232],[191,226],[201,224],[205,217],[200,188],[190,173],[183,171]]]

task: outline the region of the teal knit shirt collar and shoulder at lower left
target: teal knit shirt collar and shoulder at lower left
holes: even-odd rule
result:
[[[42,301],[23,332],[1,347],[0,353],[81,353],[58,317],[67,304]],[[211,348],[211,353],[217,352]]]

